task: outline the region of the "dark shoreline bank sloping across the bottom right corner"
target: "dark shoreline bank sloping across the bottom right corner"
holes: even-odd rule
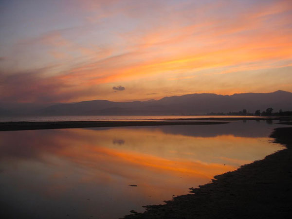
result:
[[[286,149],[233,172],[191,193],[145,206],[125,219],[286,219],[292,215],[292,128],[276,128],[271,137]],[[132,211],[133,212],[133,211]]]

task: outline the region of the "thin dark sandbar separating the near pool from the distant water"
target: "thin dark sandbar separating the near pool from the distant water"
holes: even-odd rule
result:
[[[216,125],[228,122],[210,121],[64,121],[64,122],[4,122],[0,131],[35,130],[55,128],[96,128],[126,126]]]

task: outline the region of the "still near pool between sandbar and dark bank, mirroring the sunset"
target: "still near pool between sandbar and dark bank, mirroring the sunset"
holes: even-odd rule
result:
[[[237,121],[0,132],[0,204],[12,218],[112,219],[142,212],[142,205],[186,194],[280,149],[267,137],[275,126]]]

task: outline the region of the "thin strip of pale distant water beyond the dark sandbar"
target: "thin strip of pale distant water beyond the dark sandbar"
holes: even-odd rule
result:
[[[182,115],[158,115],[158,116],[0,116],[0,122],[45,122],[45,121],[143,121],[143,120],[165,120],[180,118],[226,118],[226,116],[182,116]],[[256,116],[227,116],[237,117],[256,117]]]

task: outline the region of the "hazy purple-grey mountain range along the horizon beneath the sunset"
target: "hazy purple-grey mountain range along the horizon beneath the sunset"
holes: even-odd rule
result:
[[[35,113],[41,115],[177,115],[227,113],[242,109],[255,112],[256,110],[266,110],[269,107],[272,107],[274,111],[292,110],[292,93],[287,91],[236,93],[233,95],[194,93],[164,97],[160,100],[134,102],[92,100],[56,104],[37,110]]]

